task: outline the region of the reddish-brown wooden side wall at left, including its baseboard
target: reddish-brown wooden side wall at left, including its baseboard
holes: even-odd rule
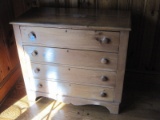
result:
[[[17,4],[19,6],[16,8]],[[19,61],[13,29],[9,25],[9,22],[20,12],[24,12],[20,10],[17,13],[17,9],[23,7],[23,0],[17,4],[13,4],[12,0],[0,1],[0,103],[6,98],[21,74],[20,69],[17,68]]]

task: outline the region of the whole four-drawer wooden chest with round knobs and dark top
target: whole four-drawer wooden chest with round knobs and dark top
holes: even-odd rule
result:
[[[74,105],[121,103],[130,15],[37,8],[12,22],[26,91]]]

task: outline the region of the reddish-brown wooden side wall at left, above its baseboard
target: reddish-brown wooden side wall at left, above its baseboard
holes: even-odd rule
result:
[[[31,0],[0,1],[0,86],[18,64],[17,48],[11,20],[28,10]]]

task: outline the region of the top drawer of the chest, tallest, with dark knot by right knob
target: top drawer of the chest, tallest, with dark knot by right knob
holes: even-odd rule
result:
[[[119,32],[23,26],[20,29],[22,41],[27,44],[118,52]]]

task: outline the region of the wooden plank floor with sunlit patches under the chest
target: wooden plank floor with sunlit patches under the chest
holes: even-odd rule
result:
[[[152,85],[125,87],[120,114],[112,115],[102,106],[66,105],[48,98],[29,107],[20,79],[0,106],[0,112],[0,120],[160,120],[160,90]]]

